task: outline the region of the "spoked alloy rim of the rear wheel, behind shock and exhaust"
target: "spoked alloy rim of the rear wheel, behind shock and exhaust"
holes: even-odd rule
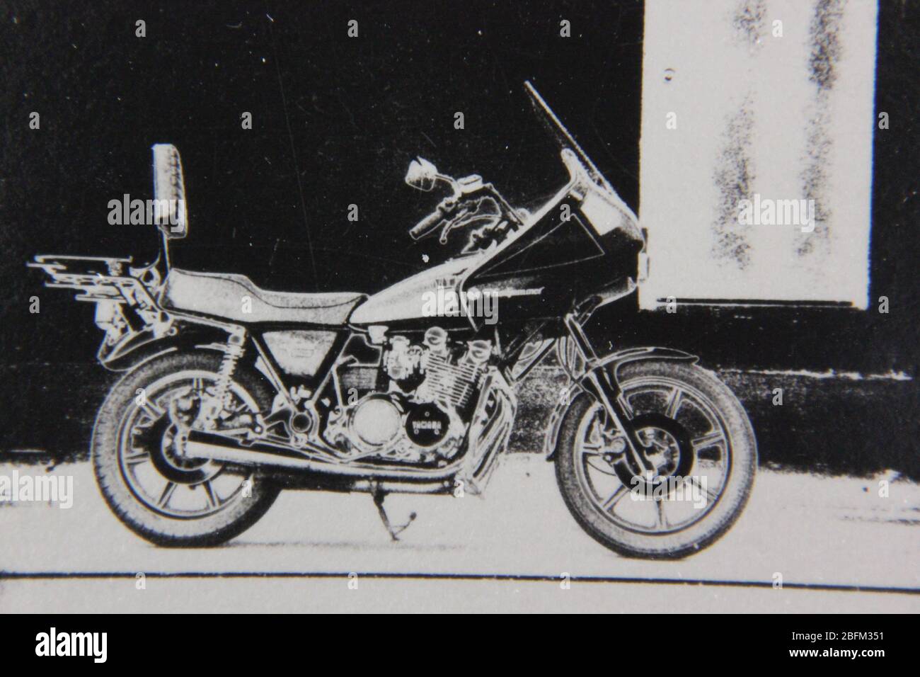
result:
[[[201,519],[236,505],[251,488],[252,472],[231,464],[180,456],[174,444],[183,417],[194,418],[201,396],[213,393],[217,375],[187,370],[158,379],[138,392],[121,418],[119,466],[145,508],[172,519]],[[170,406],[172,405],[172,411]],[[216,430],[254,417],[259,406],[236,383],[227,394]],[[178,416],[178,417],[177,417]],[[249,483],[249,484],[247,484]]]

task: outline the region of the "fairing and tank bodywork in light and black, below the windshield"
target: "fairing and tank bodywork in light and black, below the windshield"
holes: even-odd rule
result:
[[[591,180],[572,151],[563,150],[562,159],[569,183],[522,228],[492,249],[434,266],[375,294],[354,310],[351,323],[419,320],[432,315],[432,297],[477,293],[497,299],[500,320],[558,317],[581,298],[635,281],[645,244],[636,216],[612,189]],[[474,328],[480,324],[475,316],[466,321]]]

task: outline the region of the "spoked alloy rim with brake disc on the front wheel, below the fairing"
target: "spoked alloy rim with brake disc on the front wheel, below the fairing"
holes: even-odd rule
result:
[[[728,484],[728,423],[707,395],[677,379],[627,381],[623,398],[639,438],[654,449],[646,457],[652,470],[638,474],[627,463],[626,440],[604,431],[606,413],[594,403],[574,445],[581,490],[617,527],[651,535],[684,531],[715,508]]]

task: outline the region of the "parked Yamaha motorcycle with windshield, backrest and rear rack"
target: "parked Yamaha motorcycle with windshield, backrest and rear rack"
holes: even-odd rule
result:
[[[47,286],[96,304],[109,391],[92,462],[109,507],[164,546],[224,543],[284,489],[366,492],[390,535],[391,493],[481,494],[517,412],[515,383],[550,354],[568,378],[544,454],[574,519],[619,554],[675,558],[714,542],[753,485],[742,404],[696,356],[601,355],[584,330],[638,285],[638,219],[528,82],[569,181],[534,213],[491,183],[417,158],[406,182],[450,194],[412,239],[453,258],[385,290],[270,291],[241,274],[171,265],[188,232],[181,159],[154,151],[154,263],[37,255]]]

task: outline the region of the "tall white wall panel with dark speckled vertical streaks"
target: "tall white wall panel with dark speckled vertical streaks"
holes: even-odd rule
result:
[[[643,308],[668,297],[866,307],[876,11],[868,0],[646,0]],[[755,195],[812,200],[813,231],[740,224],[740,201]]]

